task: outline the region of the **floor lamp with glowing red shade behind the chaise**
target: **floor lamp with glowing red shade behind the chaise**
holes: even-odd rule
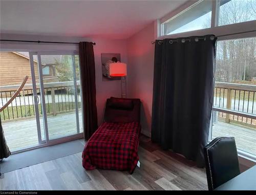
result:
[[[110,76],[121,77],[121,97],[126,98],[126,63],[110,63]]]

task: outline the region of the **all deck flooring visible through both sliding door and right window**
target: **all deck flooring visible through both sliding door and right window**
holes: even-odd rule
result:
[[[81,113],[79,123],[81,131]],[[75,113],[48,116],[48,128],[50,139],[76,134]],[[3,129],[11,151],[38,144],[35,119],[5,122]],[[42,119],[41,129],[44,129]],[[212,139],[219,136],[234,136],[238,149],[256,155],[256,129],[218,121],[212,127]],[[42,138],[44,139],[43,131]]]

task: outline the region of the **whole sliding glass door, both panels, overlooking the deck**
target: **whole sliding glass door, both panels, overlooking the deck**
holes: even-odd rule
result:
[[[0,113],[11,151],[15,153],[42,144],[54,144],[81,137],[77,53],[1,52],[2,54],[6,58],[11,56],[12,63],[15,62],[14,59],[19,60],[17,64],[13,64],[13,70],[8,74],[3,71],[3,74],[0,74],[1,82],[4,82],[4,78],[7,79],[7,83],[0,85],[2,106],[12,97],[22,81],[16,78],[17,73],[20,77],[29,76],[23,90]],[[6,63],[9,69],[10,62]],[[1,67],[4,70],[5,61],[1,61]],[[14,83],[13,86],[10,86],[10,79]]]

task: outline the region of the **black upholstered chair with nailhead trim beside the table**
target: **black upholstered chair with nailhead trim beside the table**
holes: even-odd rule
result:
[[[214,190],[240,174],[236,142],[218,137],[204,147],[208,189]]]

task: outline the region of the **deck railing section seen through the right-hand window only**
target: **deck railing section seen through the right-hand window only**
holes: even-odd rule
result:
[[[225,122],[256,125],[256,85],[215,82],[213,110]]]

